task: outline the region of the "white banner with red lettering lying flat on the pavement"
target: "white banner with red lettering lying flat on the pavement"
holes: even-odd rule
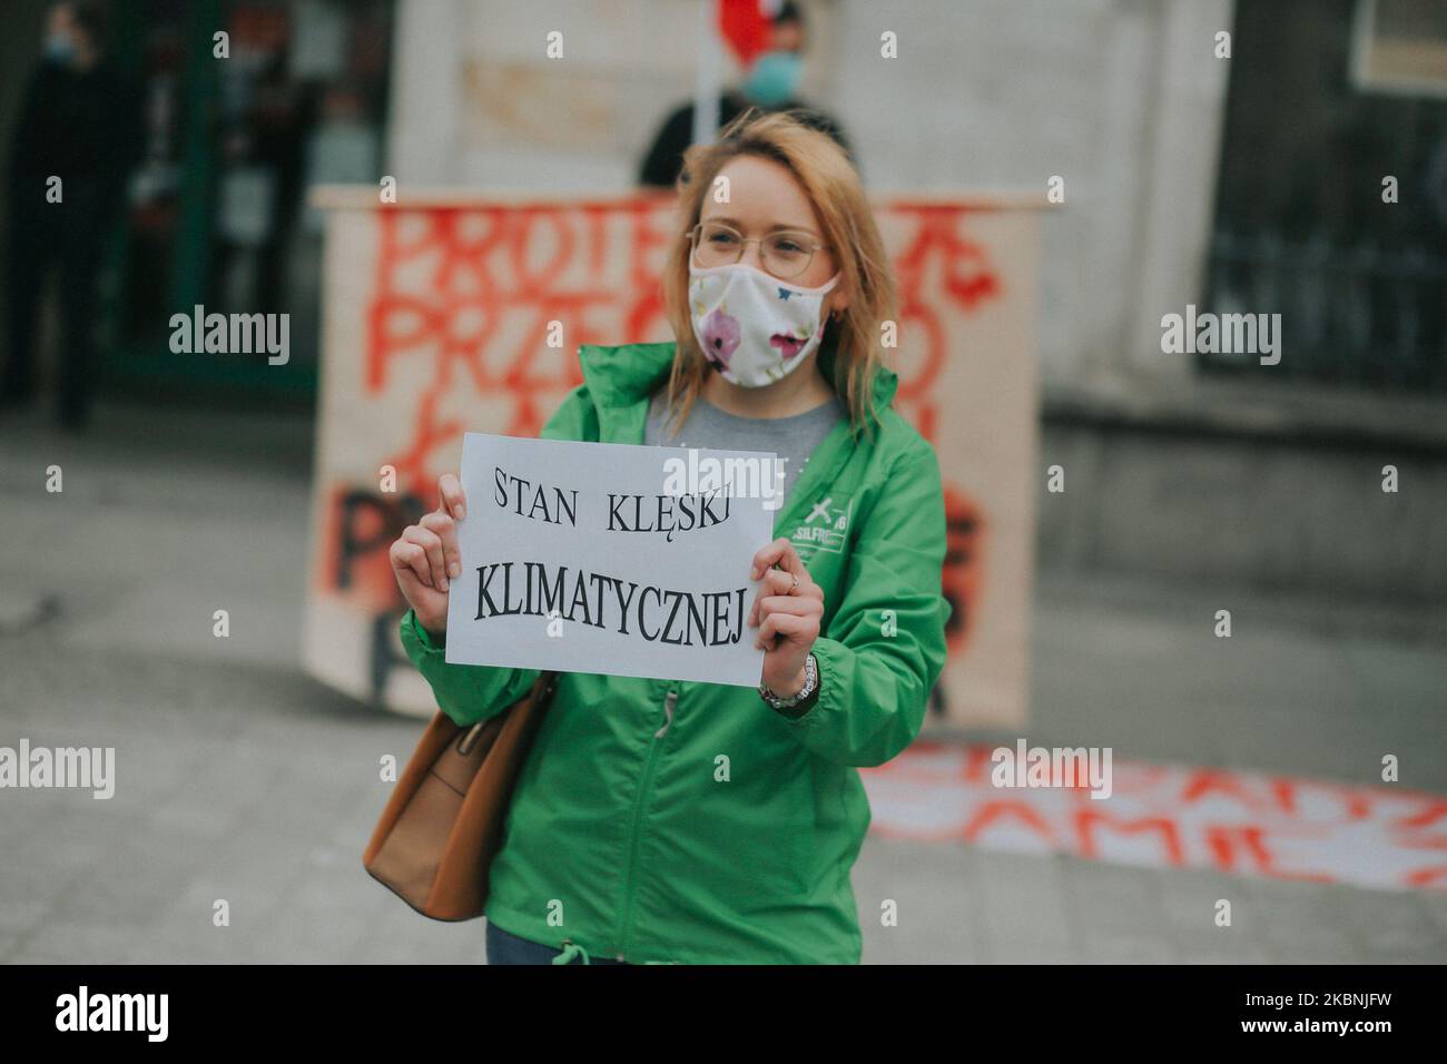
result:
[[[1042,773],[1051,786],[1030,786],[1000,772],[1009,753],[916,743],[862,770],[870,829],[1117,864],[1447,890],[1441,795],[1120,759],[1104,763],[1104,786],[1055,773]]]

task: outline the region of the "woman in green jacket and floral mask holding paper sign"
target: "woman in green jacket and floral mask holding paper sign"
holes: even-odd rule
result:
[[[939,465],[891,407],[894,282],[858,174],[826,135],[744,114],[679,191],[676,342],[585,346],[543,436],[786,460],[752,560],[761,685],[559,677],[491,869],[492,964],[857,963],[855,766],[909,746],[945,663]],[[407,653],[466,725],[538,673],[444,660],[469,501],[438,489],[391,557]]]

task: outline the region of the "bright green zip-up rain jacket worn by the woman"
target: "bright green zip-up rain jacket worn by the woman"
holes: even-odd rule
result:
[[[673,356],[673,343],[580,347],[583,384],[543,437],[642,443]],[[820,369],[832,375],[832,350]],[[874,440],[835,426],[774,517],[823,589],[812,708],[790,719],[752,688],[560,675],[492,866],[489,921],[631,963],[860,961],[849,870],[870,803],[854,766],[919,732],[951,612],[939,463],[890,407],[897,382],[880,368]],[[412,611],[401,627],[457,724],[538,676],[447,664]]]

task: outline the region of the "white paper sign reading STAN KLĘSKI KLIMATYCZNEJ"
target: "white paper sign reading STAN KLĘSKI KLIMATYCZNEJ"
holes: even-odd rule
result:
[[[776,459],[467,433],[447,662],[757,686]],[[767,478],[767,479],[765,479]]]

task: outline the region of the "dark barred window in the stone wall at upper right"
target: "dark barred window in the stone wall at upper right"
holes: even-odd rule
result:
[[[1282,360],[1198,368],[1447,391],[1447,0],[1237,0],[1231,36],[1204,303],[1279,313]]]

